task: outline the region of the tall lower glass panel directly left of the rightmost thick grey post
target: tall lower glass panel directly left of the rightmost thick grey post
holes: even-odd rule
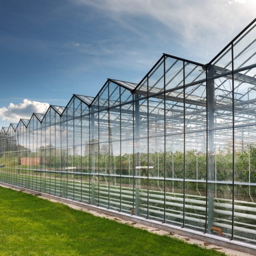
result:
[[[185,134],[184,225],[205,230],[206,131]]]

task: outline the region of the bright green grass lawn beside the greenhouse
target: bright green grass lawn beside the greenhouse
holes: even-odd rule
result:
[[[0,187],[0,255],[224,255]]]

